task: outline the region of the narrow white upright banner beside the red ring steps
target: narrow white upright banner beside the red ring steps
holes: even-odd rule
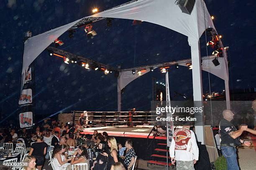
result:
[[[165,85],[166,85],[166,107],[171,106],[170,92],[169,92],[169,77],[168,71],[165,75]],[[171,112],[166,112],[166,117],[172,117]],[[173,121],[166,121],[166,133],[167,133],[167,146],[170,147],[172,142],[172,137],[174,133]]]

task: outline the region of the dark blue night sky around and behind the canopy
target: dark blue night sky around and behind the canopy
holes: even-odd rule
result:
[[[2,0],[0,36],[0,120],[16,119],[23,54],[23,37],[27,30],[32,36],[91,15],[93,7],[100,11],[129,0]],[[170,0],[171,1],[171,0]],[[256,87],[256,28],[255,1],[206,0],[210,15],[224,46],[228,46],[230,89]],[[175,16],[173,16],[175,17]],[[60,39],[62,50],[122,68],[183,60],[190,57],[187,37],[160,25],[132,20],[113,19],[93,24],[97,35],[88,39],[83,28],[76,29],[74,38],[67,32]],[[38,42],[40,43],[40,42]],[[201,56],[206,56],[205,36],[200,38]],[[31,49],[33,50],[33,49]],[[212,52],[208,48],[209,53]],[[44,51],[35,60],[36,115],[48,115],[72,110],[116,111],[117,79],[103,72],[87,71],[81,66],[65,64],[59,57]],[[164,82],[159,69],[139,77],[125,87],[122,110],[150,110],[152,77]],[[203,92],[209,91],[208,73],[202,71]],[[170,93],[174,91],[192,97],[192,71],[180,66],[169,69]],[[211,90],[221,92],[224,81],[210,75]],[[1,124],[2,125],[2,124]]]

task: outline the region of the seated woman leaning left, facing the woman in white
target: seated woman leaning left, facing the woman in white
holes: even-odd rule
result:
[[[77,153],[79,154],[79,157],[76,159]],[[68,170],[72,170],[72,165],[77,164],[77,163],[87,163],[87,169],[90,167],[90,161],[89,161],[89,156],[87,153],[87,149],[80,145],[78,147],[78,150],[74,152],[74,155],[72,156],[71,160],[71,165],[68,165]]]

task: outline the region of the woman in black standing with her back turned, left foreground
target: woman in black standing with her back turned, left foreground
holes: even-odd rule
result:
[[[30,152],[28,155],[32,155],[36,158],[36,165],[37,169],[41,170],[42,166],[44,165],[44,157],[46,154],[47,144],[43,142],[44,136],[42,133],[36,134],[36,142],[31,145]]]

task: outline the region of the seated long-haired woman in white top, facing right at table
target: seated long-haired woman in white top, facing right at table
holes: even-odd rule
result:
[[[52,153],[52,158],[53,158],[56,170],[65,170],[69,165],[69,163],[67,162],[69,160],[72,160],[72,158],[67,159],[66,156],[64,155],[66,149],[67,149],[67,145],[61,144]]]

